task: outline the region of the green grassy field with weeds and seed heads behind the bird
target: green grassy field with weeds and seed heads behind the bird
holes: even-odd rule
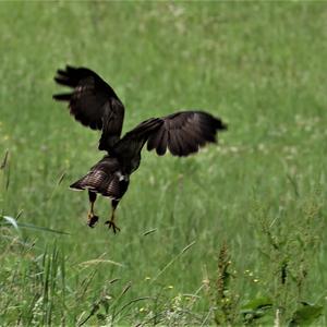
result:
[[[323,2],[0,3],[0,325],[326,325],[326,21]],[[66,63],[111,84],[124,131],[180,109],[229,124],[190,158],[144,152],[118,235],[108,201],[89,229],[68,190],[104,154],[51,99]]]

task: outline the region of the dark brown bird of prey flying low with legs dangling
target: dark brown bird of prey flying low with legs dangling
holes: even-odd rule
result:
[[[186,157],[206,143],[216,142],[218,131],[227,129],[219,118],[204,111],[179,111],[162,118],[150,118],[121,137],[124,106],[114,90],[99,75],[86,68],[66,66],[58,70],[55,81],[72,88],[71,93],[56,94],[53,99],[66,101],[76,121],[93,130],[100,130],[99,150],[105,157],[70,187],[87,190],[90,202],[88,226],[94,227],[97,194],[111,199],[111,216],[106,223],[113,232],[120,230],[114,210],[128,191],[130,175],[138,168],[141,150],[146,144],[159,156],[167,148],[173,156]]]

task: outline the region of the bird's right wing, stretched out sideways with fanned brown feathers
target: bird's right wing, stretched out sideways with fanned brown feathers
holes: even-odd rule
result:
[[[217,132],[226,129],[220,119],[207,112],[181,111],[142,122],[119,144],[123,145],[121,150],[128,150],[130,145],[142,148],[147,142],[147,149],[156,149],[159,156],[168,148],[173,156],[184,157],[198,152],[206,143],[215,143]]]

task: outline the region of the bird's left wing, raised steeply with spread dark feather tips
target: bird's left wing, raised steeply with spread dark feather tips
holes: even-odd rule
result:
[[[110,150],[120,140],[124,106],[114,90],[95,72],[86,68],[58,70],[55,81],[72,87],[72,93],[56,94],[53,99],[68,101],[70,112],[83,125],[101,130],[99,149]]]

